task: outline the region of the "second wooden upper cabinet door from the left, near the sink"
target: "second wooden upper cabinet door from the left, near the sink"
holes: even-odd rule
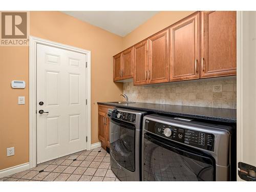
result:
[[[134,48],[130,48],[122,52],[122,79],[133,78],[133,51]]]

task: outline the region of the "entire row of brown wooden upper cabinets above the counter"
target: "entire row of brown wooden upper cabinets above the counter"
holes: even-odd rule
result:
[[[236,11],[197,11],[114,56],[134,85],[236,75]]]

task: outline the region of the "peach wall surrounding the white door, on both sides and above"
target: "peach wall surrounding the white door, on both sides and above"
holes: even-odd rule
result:
[[[30,35],[91,51],[92,143],[98,142],[97,102],[118,100],[122,83],[113,82],[112,56],[122,49],[122,37],[61,12],[30,12]],[[0,47],[0,170],[29,161],[29,48]],[[25,80],[24,90],[11,80]],[[18,96],[26,97],[17,105]],[[6,148],[15,155],[6,157]]]

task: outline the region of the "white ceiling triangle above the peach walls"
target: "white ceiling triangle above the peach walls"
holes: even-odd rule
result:
[[[119,36],[132,32],[158,11],[62,11]]]

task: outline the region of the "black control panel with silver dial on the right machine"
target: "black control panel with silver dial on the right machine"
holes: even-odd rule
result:
[[[148,119],[145,120],[144,129],[170,140],[214,151],[214,134],[185,129]]]

